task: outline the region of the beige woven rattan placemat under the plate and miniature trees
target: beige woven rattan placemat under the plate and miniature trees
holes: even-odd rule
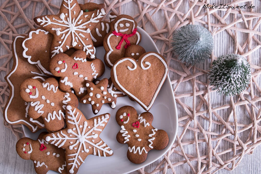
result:
[[[85,1],[88,2],[88,1]],[[85,3],[79,1],[79,3]],[[206,1],[182,0],[113,0],[90,1],[104,3],[106,13],[133,16],[156,42],[167,59],[174,87],[178,113],[179,132],[171,150],[151,166],[154,169],[140,173],[175,173],[180,165],[189,165],[193,173],[213,173],[220,169],[233,170],[246,154],[261,144],[260,136],[260,1],[237,0],[231,6],[255,5],[251,9],[206,9]],[[211,4],[213,2],[211,1]],[[220,4],[230,2],[219,2]],[[217,4],[218,5],[218,4]],[[1,55],[5,60],[2,73],[10,71],[13,64],[11,43],[17,34],[27,33],[37,27],[33,18],[44,14],[56,14],[60,1],[3,0],[0,6]],[[131,10],[130,10],[131,9]],[[108,17],[105,17],[108,19]],[[171,52],[173,32],[186,24],[200,24],[214,37],[215,49],[211,59],[197,66],[185,66]],[[217,39],[219,38],[219,39]],[[222,39],[220,39],[222,38]],[[224,38],[224,39],[223,39]],[[252,78],[249,88],[239,96],[223,97],[211,90],[206,73],[211,62],[228,53],[244,55],[251,64]],[[7,83],[0,82],[1,112],[9,96]],[[17,139],[20,125],[8,125]],[[188,153],[193,149],[194,153]],[[174,160],[173,160],[174,159]],[[169,170],[168,170],[169,169]]]

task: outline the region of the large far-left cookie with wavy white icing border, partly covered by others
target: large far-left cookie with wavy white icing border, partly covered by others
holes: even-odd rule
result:
[[[5,76],[5,81],[10,89],[10,95],[5,104],[3,114],[8,124],[22,124],[28,127],[31,132],[36,132],[39,128],[43,128],[39,126],[44,125],[43,120],[32,119],[28,116],[26,112],[28,103],[23,101],[20,96],[20,84],[28,78],[44,81],[46,75],[36,65],[29,64],[27,59],[23,57],[24,49],[22,43],[26,37],[26,35],[18,35],[12,43],[14,63],[11,71]]]

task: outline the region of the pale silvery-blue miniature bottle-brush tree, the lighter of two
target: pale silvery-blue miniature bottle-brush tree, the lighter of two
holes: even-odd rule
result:
[[[182,63],[199,64],[209,59],[213,51],[213,37],[199,25],[186,25],[173,34],[173,52]]]

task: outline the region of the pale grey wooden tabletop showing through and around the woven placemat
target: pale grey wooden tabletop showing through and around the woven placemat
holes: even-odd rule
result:
[[[2,5],[4,2],[5,2],[5,0],[0,0],[0,5]],[[84,3],[83,1],[79,1],[79,2]],[[97,1],[94,1],[94,2],[97,2]],[[99,1],[99,3],[101,3],[101,2],[102,1]],[[156,4],[159,4],[160,2],[161,1],[159,1],[159,0],[153,1],[153,3],[156,3]],[[218,3],[220,3],[220,4],[225,4],[225,3],[229,3],[229,2],[230,1],[228,1],[228,0],[218,1]],[[23,7],[26,3],[27,3],[27,1],[24,1],[24,2],[20,2],[19,4],[21,5],[21,7]],[[60,1],[54,0],[54,1],[52,1],[52,3],[60,6]],[[213,3],[213,2],[211,1],[210,3]],[[254,9],[254,12],[261,13],[261,3],[260,3],[260,1],[258,1],[258,0],[252,1],[252,4],[256,6],[256,8]],[[42,3],[40,5],[37,5],[37,8],[35,9],[35,11],[36,11],[35,13],[37,14],[42,7],[43,7]],[[146,5],[144,7],[146,7]],[[129,9],[132,9],[132,10],[129,10]],[[185,0],[181,1],[181,5],[180,5],[179,9],[183,9],[182,11],[184,13],[186,13],[186,11],[189,9],[188,1],[185,1]],[[137,14],[137,11],[139,11],[139,8],[137,7],[137,5],[134,4],[134,2],[129,2],[129,3],[124,4],[121,7],[121,9],[119,9],[119,10],[120,10],[120,13],[128,14],[128,15],[132,16],[132,15]],[[15,11],[18,11],[18,9],[15,9]],[[32,6],[28,6],[28,8],[24,10],[24,12],[25,12],[25,15],[28,18],[31,18],[32,17],[32,13],[31,13],[32,12]],[[55,13],[56,12],[57,12],[57,10],[55,11]],[[6,14],[4,11],[2,11],[1,13]],[[46,9],[45,9],[44,13],[47,14]],[[153,12],[150,12],[151,15],[152,15],[152,13]],[[225,13],[220,12],[220,11],[218,11],[217,13],[221,16],[223,16],[225,14]],[[161,20],[162,18],[164,18],[164,15],[165,14],[163,13],[163,11],[160,11],[160,12],[156,13],[155,15],[151,16],[151,18],[156,22],[156,25],[158,26],[158,28],[162,28],[162,26],[164,25],[165,21]],[[233,21],[233,17],[234,17],[233,15],[229,15],[228,20]],[[177,18],[177,17],[175,16],[175,18]],[[211,18],[211,23],[218,23],[218,22],[219,21],[216,18],[214,18],[214,17]],[[17,18],[16,21],[14,22],[15,25],[17,25],[19,23],[24,23],[22,18]],[[199,24],[198,22],[195,22],[195,23]],[[239,25],[242,25],[242,24],[237,24],[237,25],[238,25],[237,27],[240,27]],[[6,26],[6,22],[3,20],[3,17],[0,17],[0,28],[1,28],[1,30],[5,26]],[[146,27],[146,31],[148,33],[155,32],[155,30],[153,29],[153,27],[150,24],[145,25],[145,27]],[[205,27],[207,27],[207,26],[205,25]],[[17,31],[18,31],[18,33],[23,34],[26,31],[26,28],[20,28]],[[260,27],[257,29],[257,31],[260,32]],[[166,35],[166,34],[164,33],[164,35]],[[257,36],[257,38],[260,40],[260,36]],[[4,38],[4,39],[9,39],[9,38]],[[238,36],[238,42],[241,45],[243,45],[244,42],[247,39],[248,39],[247,34],[242,34],[242,35],[239,34],[239,36]],[[227,32],[221,32],[221,33],[215,35],[214,42],[215,42],[214,43],[214,45],[215,45],[215,49],[214,49],[215,56],[220,56],[220,55],[223,55],[223,54],[235,52],[234,47],[233,47],[234,41],[228,35]],[[156,45],[158,46],[159,50],[161,51],[163,41],[157,41]],[[9,49],[11,49],[11,48],[9,48]],[[4,48],[4,46],[2,44],[0,44],[0,55],[4,55],[4,54],[7,54],[7,51]],[[261,55],[260,49],[255,51],[253,54],[251,54],[251,57],[254,58],[254,59],[252,59],[252,64],[260,66],[260,55]],[[6,58],[5,58],[5,60],[0,59],[0,64],[2,65],[5,61],[6,61]],[[12,65],[12,63],[11,63],[11,65]],[[203,64],[200,64],[198,67],[201,68],[201,69],[207,70],[209,68],[209,65],[210,65],[210,60],[209,60],[209,62],[205,62]],[[178,65],[178,63],[176,61],[170,61],[170,66],[174,67],[177,70],[182,71],[180,65]],[[179,76],[177,76],[177,74],[173,73],[173,72],[170,72],[169,75],[170,75],[171,80],[179,78]],[[4,76],[5,76],[5,73],[1,72],[0,73],[1,82],[4,82]],[[206,77],[200,76],[198,80],[206,82]],[[260,85],[260,78],[257,79],[257,80],[258,80],[259,85]],[[173,85],[173,86],[175,88],[175,85]],[[179,86],[179,90],[177,91],[177,94],[189,93],[189,92],[191,92],[191,90],[192,90],[192,85],[188,86],[185,83],[183,83],[183,84],[181,83],[180,86]],[[211,97],[212,97],[211,100],[212,100],[212,107],[213,108],[218,107],[218,106],[223,105],[223,104],[226,104],[226,103],[229,103],[229,98],[226,98],[226,97],[223,97],[223,96],[218,96],[218,95],[213,94],[213,93],[211,94]],[[189,105],[190,107],[192,107],[192,100],[193,100],[192,97],[181,98],[182,102],[190,103],[190,105]],[[186,115],[186,113],[183,113],[183,108],[179,104],[177,105],[177,107],[178,107],[179,115]],[[207,109],[207,108],[205,108],[205,109]],[[219,112],[219,114],[222,115],[222,116],[228,116],[229,113],[230,113],[229,110],[221,110]],[[249,121],[250,118],[245,116],[246,113],[247,113],[247,111],[244,108],[241,108],[241,110],[238,110],[238,113],[237,113],[238,117],[240,117],[238,119],[241,120],[241,122],[245,122],[245,124],[250,123],[250,121]],[[202,125],[208,124],[208,122],[204,119],[199,118],[199,121],[201,122]],[[31,160],[23,160],[16,154],[15,144],[16,144],[17,139],[12,134],[10,129],[3,126],[4,125],[4,119],[3,119],[2,113],[0,115],[0,125],[2,125],[0,127],[0,139],[1,139],[1,141],[0,141],[0,173],[4,173],[4,174],[35,173],[35,171],[33,169],[33,162]],[[222,128],[220,126],[212,127],[212,131],[216,130],[216,132],[221,132],[221,129]],[[178,135],[181,134],[182,130],[183,130],[183,128],[179,127]],[[240,137],[244,137],[244,136],[247,136],[247,135],[248,134],[246,134],[246,133],[242,133],[242,134],[240,134]],[[199,139],[203,139],[202,134],[198,134],[198,136],[199,136]],[[183,137],[183,141],[191,140],[192,138],[193,138],[193,131],[191,131],[189,134],[188,133],[185,134],[185,136]],[[226,149],[226,147],[230,147],[230,146],[231,145],[228,144],[228,143],[223,144],[224,149]],[[196,156],[195,147],[193,145],[183,146],[183,148],[184,148],[184,150],[187,154],[191,154],[193,156]],[[199,148],[200,148],[200,152],[202,152],[201,155],[207,154],[206,146],[199,145]],[[230,159],[231,154],[224,154],[223,158],[224,159]],[[150,172],[153,169],[155,169],[157,164],[162,159],[163,159],[163,157],[161,157],[155,163],[153,163],[149,166],[146,166],[145,171]],[[170,160],[171,160],[172,163],[176,163],[178,161],[184,160],[184,158],[183,158],[183,156],[173,154],[170,157]],[[233,171],[227,171],[227,170],[222,169],[222,170],[217,171],[216,173],[229,173],[229,174],[230,173],[231,174],[234,174],[234,173],[237,173],[237,174],[238,173],[260,173],[261,172],[260,160],[261,160],[261,147],[258,146],[254,150],[253,154],[245,155],[243,157],[241,163],[239,164],[239,166],[236,169],[234,169]],[[196,165],[195,162],[192,162],[192,164]],[[187,163],[180,165],[178,167],[175,167],[175,171],[176,171],[176,173],[193,173],[191,171],[191,167],[189,167]],[[135,171],[135,172],[132,172],[132,173],[138,173],[138,172]],[[168,169],[167,173],[172,173],[172,171],[170,169]]]

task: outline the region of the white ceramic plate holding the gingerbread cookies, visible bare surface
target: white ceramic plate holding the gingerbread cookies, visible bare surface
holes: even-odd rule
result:
[[[142,40],[139,45],[143,46],[146,52],[154,51],[159,53],[158,48],[156,47],[151,37],[140,27],[138,27],[138,31],[141,33],[142,36]],[[103,60],[104,54],[105,54],[105,50],[103,47],[98,47],[96,49],[97,58]],[[109,69],[105,65],[105,73],[99,79],[103,79],[105,77],[109,79],[110,70],[111,69]],[[126,156],[128,145],[120,144],[116,140],[116,134],[118,133],[118,131],[120,131],[121,128],[116,123],[115,115],[117,110],[125,105],[130,105],[134,107],[137,110],[138,114],[145,112],[145,110],[141,108],[139,104],[129,100],[127,96],[117,98],[115,109],[111,109],[111,107],[108,104],[104,104],[102,106],[102,109],[99,111],[97,115],[103,113],[110,113],[111,117],[107,126],[100,134],[100,138],[102,138],[102,140],[111,147],[111,149],[113,150],[113,155],[111,157],[106,157],[106,158],[105,157],[99,158],[98,156],[89,155],[85,159],[85,163],[80,166],[78,170],[79,174],[86,173],[86,172],[129,173],[153,163],[154,161],[162,157],[170,149],[177,135],[178,116],[177,116],[177,108],[176,108],[174,93],[173,93],[169,76],[167,76],[167,79],[165,80],[154,104],[152,105],[152,108],[150,109],[150,112],[153,114],[153,118],[154,118],[152,125],[155,128],[164,129],[168,133],[169,144],[163,150],[151,150],[148,153],[146,161],[144,161],[141,164],[131,163]],[[90,119],[91,117],[95,116],[92,113],[91,105],[89,104],[86,105],[86,104],[79,103],[79,109],[82,111],[82,113],[85,115],[87,119]],[[23,128],[23,132],[25,133],[25,136],[34,140],[36,140],[38,135],[44,131],[43,129],[33,134],[26,126],[22,125],[22,128]],[[48,172],[48,174],[55,174],[55,173],[56,172],[54,171]]]

